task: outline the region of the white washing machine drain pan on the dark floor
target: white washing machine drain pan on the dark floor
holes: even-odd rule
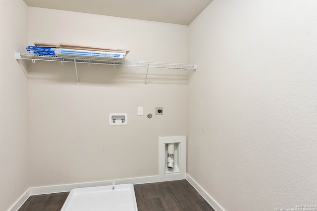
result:
[[[60,211],[138,211],[132,184],[75,188]]]

